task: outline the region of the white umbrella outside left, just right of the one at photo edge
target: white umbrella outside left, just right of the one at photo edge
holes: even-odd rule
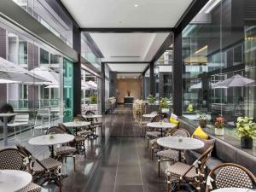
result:
[[[48,84],[50,86],[59,86],[59,79],[60,75],[55,73],[53,70],[49,69],[48,67],[37,67],[30,71],[33,74],[36,74],[48,81],[41,82],[41,84]]]

